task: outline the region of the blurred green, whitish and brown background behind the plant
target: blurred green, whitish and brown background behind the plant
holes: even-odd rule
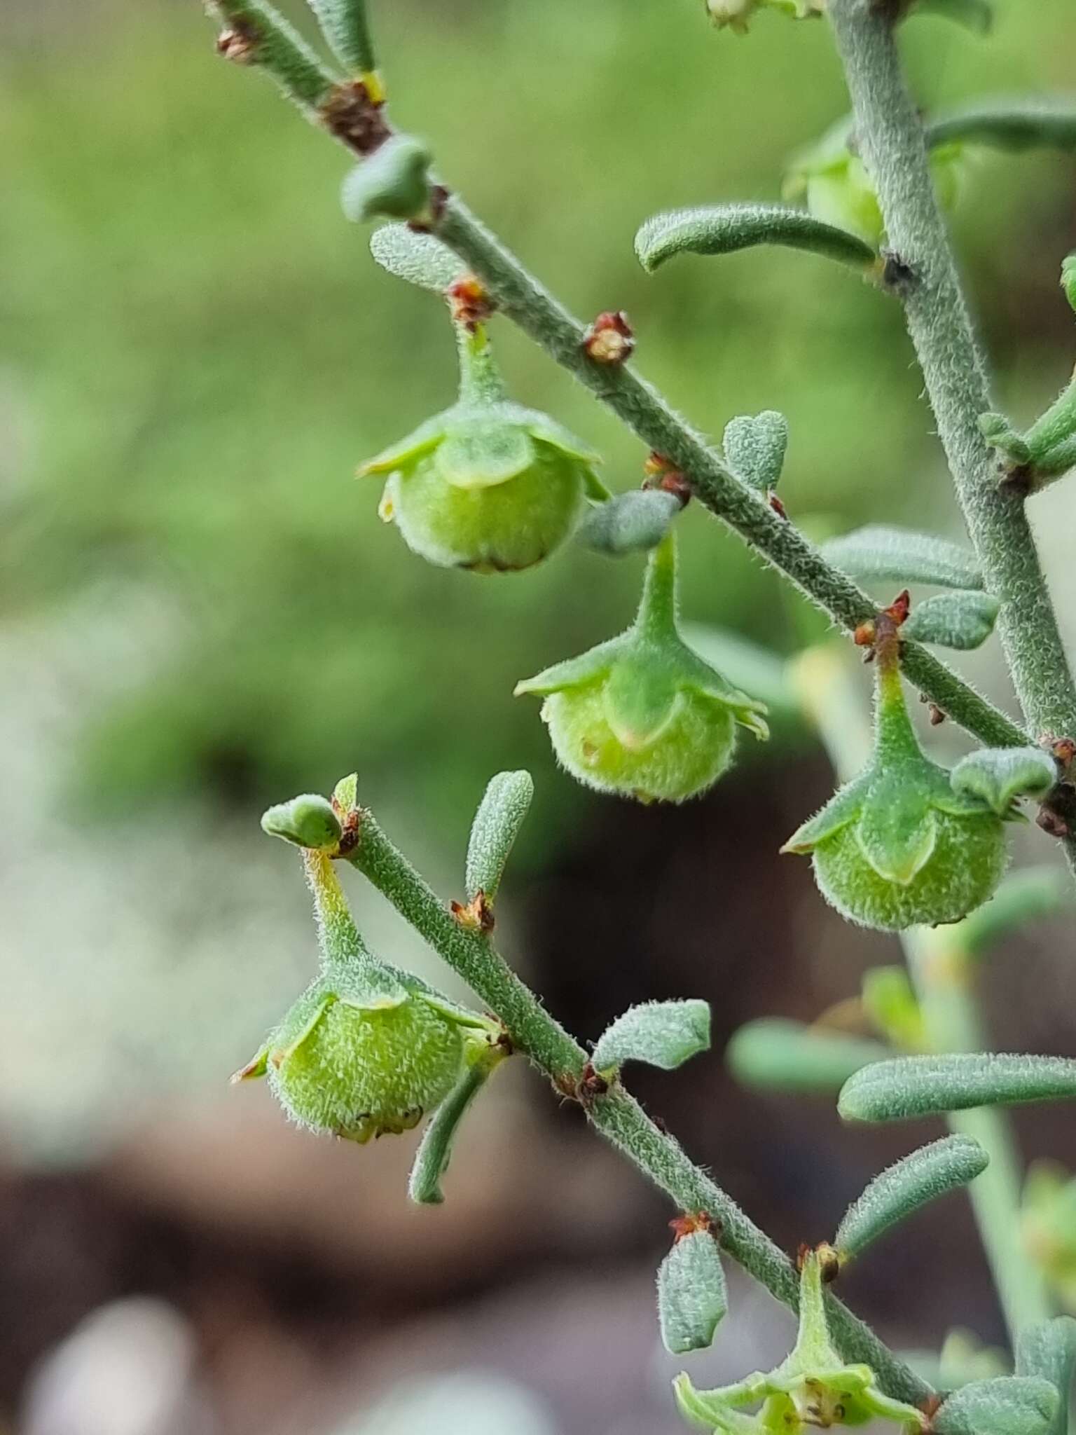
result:
[[[399,122],[570,307],[626,309],[640,367],[707,432],[788,415],[795,521],[958,532],[895,304],[799,254],[647,278],[631,253],[656,210],[778,195],[788,154],[844,108],[823,24],[763,16],[737,42],[693,0],[374,9]],[[1072,86],[1069,0],[997,10],[987,40],[907,26],[925,106]],[[538,799],[505,898],[521,964],[581,1036],[689,989],[720,1003],[720,1035],[813,1016],[864,960],[895,960],[773,858],[825,796],[825,763],[788,735],[676,812],[572,786],[512,684],[621,627],[641,563],[572,550],[478,578],[425,565],[377,521],[356,464],[449,402],[455,362],[439,304],[377,270],[341,218],[346,156],[215,60],[195,0],[9,0],[1,23],[0,1429],[23,1428],[36,1362],[133,1296],[165,1302],[161,1349],[174,1372],[188,1362],[176,1389],[198,1403],[185,1431],[329,1429],[396,1376],[472,1365],[537,1389],[564,1435],[674,1429],[669,1372],[646,1373],[661,1208],[525,1073],[476,1118],[455,1215],[403,1211],[402,1147],[321,1145],[222,1086],[311,963],[297,864],[257,818],[357,766],[448,891],[485,781],[528,766]],[[1056,284],[1073,181],[1070,158],[974,156],[954,215],[999,399],[1021,422],[1076,350]],[[495,340],[518,397],[594,442],[613,488],[636,485],[640,445],[506,326]],[[1033,517],[1073,637],[1067,489]],[[703,512],[681,532],[693,620],[778,651],[813,631]],[[964,667],[1010,700],[993,649]],[[386,950],[440,980],[360,903]],[[1021,950],[1036,1004],[991,977],[1000,1029],[1070,1049],[1072,941]],[[746,1098],[710,1065],[702,1086],[654,1086],[661,1109],[779,1238],[815,1234],[805,1223],[834,1218],[885,1141],[851,1142],[819,1109],[822,1170],[795,1105]],[[1063,1129],[1026,1129],[1072,1162],[1070,1132],[1066,1152]],[[922,1257],[864,1304],[917,1345],[977,1304],[996,1339],[966,1217],[944,1220],[953,1284],[930,1329],[905,1299]],[[743,1300],[745,1359],[765,1365],[778,1317]],[[40,1396],[24,1428],[172,1428],[139,1425],[122,1380],[100,1385],[103,1425],[50,1425]]]

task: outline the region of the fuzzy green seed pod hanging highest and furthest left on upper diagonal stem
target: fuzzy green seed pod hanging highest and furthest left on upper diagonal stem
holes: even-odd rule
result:
[[[482,326],[459,327],[459,402],[359,472],[387,474],[382,517],[429,563],[529,568],[571,535],[588,494],[604,497],[598,456],[547,415],[511,403]]]

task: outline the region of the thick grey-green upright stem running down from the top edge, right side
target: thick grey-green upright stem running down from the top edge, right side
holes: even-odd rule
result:
[[[858,145],[878,191],[885,230],[908,278],[908,331],[990,593],[997,630],[1034,742],[1076,733],[1076,687],[1039,564],[1024,495],[999,482],[978,430],[991,408],[986,369],[938,210],[922,122],[901,73],[888,6],[831,0]]]

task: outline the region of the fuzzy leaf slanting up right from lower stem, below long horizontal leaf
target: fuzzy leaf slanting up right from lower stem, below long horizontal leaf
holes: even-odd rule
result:
[[[930,1201],[981,1175],[990,1157],[970,1137],[943,1137],[888,1167],[854,1201],[836,1228],[841,1257],[861,1256],[879,1236]]]

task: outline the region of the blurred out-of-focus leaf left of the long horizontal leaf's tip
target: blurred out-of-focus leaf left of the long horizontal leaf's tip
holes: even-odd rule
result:
[[[835,1095],[871,1062],[888,1055],[881,1042],[780,1017],[747,1022],[725,1049],[736,1081],[760,1091]]]

